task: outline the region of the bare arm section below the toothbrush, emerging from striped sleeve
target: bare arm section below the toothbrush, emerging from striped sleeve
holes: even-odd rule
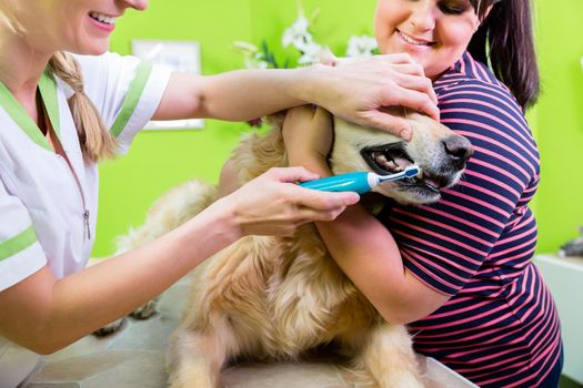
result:
[[[404,267],[389,229],[361,205],[351,206],[333,222],[315,224],[336,264],[388,321],[421,319],[450,298]]]

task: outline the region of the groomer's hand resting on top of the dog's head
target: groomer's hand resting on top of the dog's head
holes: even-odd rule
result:
[[[364,126],[388,131],[411,140],[406,120],[383,111],[383,106],[402,105],[439,120],[438,99],[423,68],[406,53],[371,58],[326,58],[314,65],[316,105],[332,114]]]

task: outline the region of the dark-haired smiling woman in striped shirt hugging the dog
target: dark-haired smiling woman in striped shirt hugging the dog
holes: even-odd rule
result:
[[[539,94],[531,18],[529,0],[379,0],[381,52],[420,64],[441,122],[475,153],[435,204],[392,204],[378,218],[355,205],[318,223],[334,261],[383,317],[409,324],[415,350],[480,387],[556,387],[562,369],[556,308],[531,262],[529,202],[540,171],[524,119]],[[330,174],[330,127],[323,110],[291,111],[290,163]]]

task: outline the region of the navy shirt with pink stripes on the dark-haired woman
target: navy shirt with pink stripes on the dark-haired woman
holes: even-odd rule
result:
[[[475,152],[439,203],[381,214],[406,268],[452,296],[410,325],[415,350],[480,387],[534,387],[562,346],[553,298],[531,262],[536,144],[511,92],[469,53],[434,89],[442,123]]]

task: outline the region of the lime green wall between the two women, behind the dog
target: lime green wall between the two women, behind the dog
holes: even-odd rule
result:
[[[304,0],[306,13],[320,8],[314,32],[320,42],[343,53],[351,34],[372,32],[373,0]],[[203,74],[240,69],[234,40],[279,43],[283,29],[295,20],[291,0],[151,0],[145,12],[128,10],[118,21],[111,51],[130,53],[131,39],[195,40],[201,44]],[[325,39],[323,39],[325,37]],[[217,182],[222,163],[244,123],[205,121],[202,131],[144,131],[127,156],[100,167],[99,222],[93,256],[113,252],[114,238],[140,225],[152,202],[168,188],[192,177]]]

